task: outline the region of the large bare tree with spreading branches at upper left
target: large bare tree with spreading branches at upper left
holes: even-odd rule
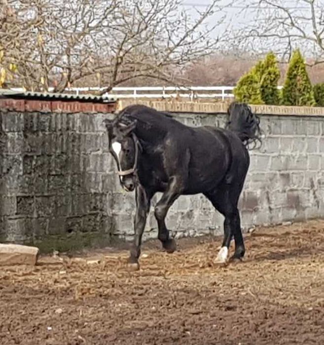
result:
[[[63,91],[92,80],[113,86],[139,77],[174,79],[175,68],[219,43],[206,20],[213,0],[192,20],[181,0],[0,0],[0,51],[16,84]],[[88,86],[88,85],[84,85]],[[93,86],[93,85],[91,85]]]

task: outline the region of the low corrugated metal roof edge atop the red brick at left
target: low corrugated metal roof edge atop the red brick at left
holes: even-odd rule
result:
[[[53,93],[53,92],[33,92],[33,91],[15,91],[9,89],[0,89],[0,97],[19,98],[19,99],[39,99],[39,100],[58,100],[58,101],[78,101],[93,103],[114,103],[116,100],[107,96],[96,96],[89,94],[70,94],[70,93]]]

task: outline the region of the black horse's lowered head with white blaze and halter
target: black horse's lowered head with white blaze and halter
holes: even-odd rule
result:
[[[109,152],[114,157],[119,182],[127,192],[132,192],[138,182],[137,168],[141,145],[133,130],[136,121],[104,120],[108,130]]]

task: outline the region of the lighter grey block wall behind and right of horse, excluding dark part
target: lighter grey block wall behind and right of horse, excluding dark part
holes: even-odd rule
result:
[[[223,114],[174,115],[190,126],[225,125]],[[324,117],[260,118],[263,143],[250,151],[250,169],[239,201],[242,228],[324,217]],[[153,198],[144,238],[157,236],[153,207],[160,195]],[[203,195],[180,196],[166,223],[175,237],[223,233],[223,217]],[[115,230],[131,239],[130,227],[131,222],[125,221]]]

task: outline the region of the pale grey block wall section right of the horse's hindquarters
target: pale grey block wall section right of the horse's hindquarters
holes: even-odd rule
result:
[[[265,138],[240,200],[244,227],[324,216],[323,119],[261,117]]]

